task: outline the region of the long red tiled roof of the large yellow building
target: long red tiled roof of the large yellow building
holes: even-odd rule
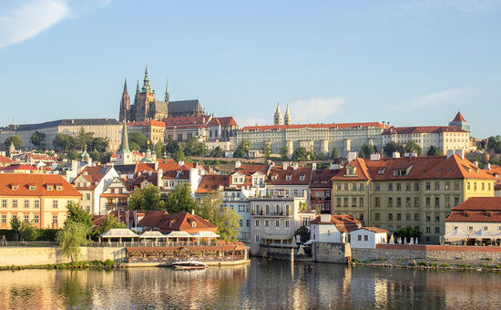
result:
[[[354,174],[348,174],[355,167]],[[483,179],[495,178],[476,167],[470,160],[457,155],[383,158],[381,160],[355,159],[332,178],[339,180],[421,180],[421,179]]]

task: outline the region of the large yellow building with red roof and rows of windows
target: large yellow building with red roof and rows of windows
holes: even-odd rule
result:
[[[438,243],[445,218],[470,197],[493,197],[495,178],[458,155],[356,159],[332,178],[332,214],[395,232],[418,228]]]

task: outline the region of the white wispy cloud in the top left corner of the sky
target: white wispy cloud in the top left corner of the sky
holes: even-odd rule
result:
[[[26,0],[14,6],[0,7],[0,48],[23,42],[60,21],[92,8],[101,8],[111,0]]]

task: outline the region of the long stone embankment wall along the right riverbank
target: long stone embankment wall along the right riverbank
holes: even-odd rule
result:
[[[378,244],[375,249],[352,249],[360,262],[374,260],[433,260],[478,263],[501,262],[501,248],[493,246]]]

